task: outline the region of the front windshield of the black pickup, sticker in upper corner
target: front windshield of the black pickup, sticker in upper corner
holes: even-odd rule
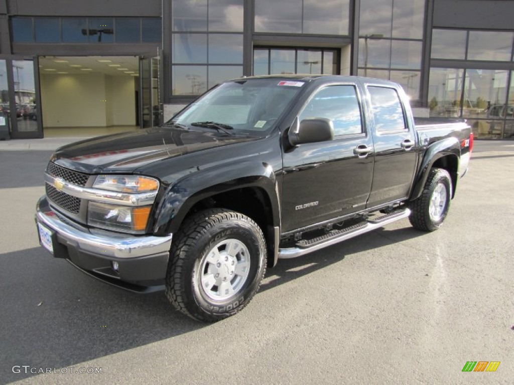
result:
[[[234,132],[262,135],[273,127],[304,84],[281,79],[223,83],[189,105],[169,123],[190,128],[215,124],[231,128]]]

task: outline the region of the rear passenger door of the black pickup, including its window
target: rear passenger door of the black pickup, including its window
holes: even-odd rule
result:
[[[370,125],[375,146],[373,185],[367,207],[409,196],[417,161],[414,127],[409,126],[398,90],[368,85]]]

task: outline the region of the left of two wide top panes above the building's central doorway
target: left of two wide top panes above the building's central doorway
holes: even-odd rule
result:
[[[302,33],[302,0],[257,0],[255,32]]]

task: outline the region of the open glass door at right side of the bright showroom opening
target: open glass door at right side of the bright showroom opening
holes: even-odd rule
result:
[[[140,125],[142,128],[162,123],[160,57],[142,58],[139,62],[140,79]]]

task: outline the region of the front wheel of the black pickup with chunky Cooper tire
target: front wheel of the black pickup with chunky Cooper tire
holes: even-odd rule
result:
[[[250,302],[265,270],[264,236],[252,219],[225,209],[201,211],[173,242],[166,295],[189,317],[218,321]]]

